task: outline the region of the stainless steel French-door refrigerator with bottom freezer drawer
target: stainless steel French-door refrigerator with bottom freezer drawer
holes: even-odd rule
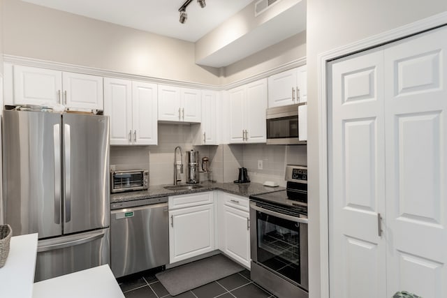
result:
[[[110,260],[108,117],[5,110],[3,210],[38,232],[35,281]]]

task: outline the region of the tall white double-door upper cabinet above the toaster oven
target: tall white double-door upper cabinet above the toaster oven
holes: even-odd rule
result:
[[[157,144],[157,86],[104,79],[104,114],[110,117],[110,144]]]

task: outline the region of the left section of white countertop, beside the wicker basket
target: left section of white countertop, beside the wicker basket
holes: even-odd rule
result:
[[[0,268],[0,296],[32,297],[38,234],[11,237],[6,264]]]

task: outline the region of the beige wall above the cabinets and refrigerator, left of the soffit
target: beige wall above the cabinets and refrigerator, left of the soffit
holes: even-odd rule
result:
[[[3,0],[5,54],[184,82],[219,84],[194,44],[20,0]]]

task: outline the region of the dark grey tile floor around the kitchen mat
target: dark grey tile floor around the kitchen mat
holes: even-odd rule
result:
[[[118,278],[119,286],[126,298],[168,298],[165,287],[155,277],[159,270],[145,271]],[[250,271],[227,276],[212,283],[207,283],[199,288],[184,292],[176,298],[270,298],[274,297],[269,292],[258,287],[250,280]]]

